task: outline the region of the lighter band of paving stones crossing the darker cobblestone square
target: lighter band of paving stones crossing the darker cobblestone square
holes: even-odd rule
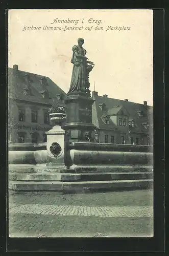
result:
[[[153,217],[152,206],[78,206],[28,204],[9,208],[9,214],[38,214],[54,216]]]

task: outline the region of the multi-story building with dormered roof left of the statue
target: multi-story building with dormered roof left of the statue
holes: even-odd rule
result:
[[[49,77],[8,69],[8,138],[12,143],[41,143],[51,129],[48,110],[66,93]]]

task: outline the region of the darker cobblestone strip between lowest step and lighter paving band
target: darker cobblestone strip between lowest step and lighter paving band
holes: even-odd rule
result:
[[[114,191],[107,193],[67,194],[55,191],[9,195],[9,206],[24,204],[81,205],[81,206],[150,206],[152,190]]]

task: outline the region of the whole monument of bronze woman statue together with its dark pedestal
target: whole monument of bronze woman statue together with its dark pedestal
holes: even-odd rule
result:
[[[71,63],[73,71],[71,75],[70,89],[65,97],[66,122],[63,129],[67,132],[68,143],[74,141],[92,142],[95,126],[92,124],[92,104],[94,100],[90,95],[89,73],[94,63],[86,57],[86,50],[82,47],[84,39],[78,39],[78,45],[74,45]],[[66,160],[69,161],[69,160]]]

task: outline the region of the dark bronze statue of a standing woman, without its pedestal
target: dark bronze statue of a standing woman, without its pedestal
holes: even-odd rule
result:
[[[68,93],[83,92],[90,93],[89,72],[93,69],[94,63],[89,61],[86,50],[82,47],[84,39],[78,39],[78,46],[73,46],[73,55],[71,63],[73,63],[73,72],[71,76],[70,89]]]

